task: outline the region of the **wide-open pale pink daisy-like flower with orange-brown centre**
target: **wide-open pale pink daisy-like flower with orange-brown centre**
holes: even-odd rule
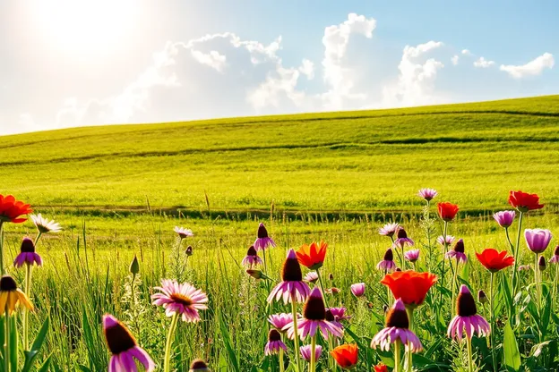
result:
[[[183,321],[195,323],[200,321],[198,310],[208,309],[205,305],[208,302],[206,293],[190,283],[180,284],[176,280],[163,279],[161,286],[154,289],[160,292],[151,295],[151,300],[154,305],[162,306],[168,317],[181,315]]]

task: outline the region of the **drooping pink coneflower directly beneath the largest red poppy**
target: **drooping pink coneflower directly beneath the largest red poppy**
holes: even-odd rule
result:
[[[394,302],[392,309],[386,315],[386,326],[374,335],[371,347],[376,349],[377,346],[380,346],[381,350],[388,351],[391,343],[394,342],[401,342],[406,351],[417,352],[423,350],[417,335],[409,330],[408,313],[406,313],[406,306],[401,299]]]

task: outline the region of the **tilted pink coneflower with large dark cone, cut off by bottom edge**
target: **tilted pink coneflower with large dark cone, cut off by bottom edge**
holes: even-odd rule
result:
[[[148,372],[155,369],[155,363],[150,355],[137,345],[133,335],[116,317],[109,314],[103,316],[103,330],[108,350],[112,354],[108,363],[108,372],[137,370],[133,359],[142,363],[143,368]]]

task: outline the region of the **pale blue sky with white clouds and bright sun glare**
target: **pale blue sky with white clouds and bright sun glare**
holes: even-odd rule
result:
[[[0,135],[559,93],[555,0],[0,0]]]

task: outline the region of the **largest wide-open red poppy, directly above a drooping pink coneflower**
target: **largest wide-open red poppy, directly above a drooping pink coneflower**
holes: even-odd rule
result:
[[[385,275],[381,283],[390,288],[394,298],[401,299],[406,306],[419,306],[436,281],[437,276],[434,274],[408,270]]]

